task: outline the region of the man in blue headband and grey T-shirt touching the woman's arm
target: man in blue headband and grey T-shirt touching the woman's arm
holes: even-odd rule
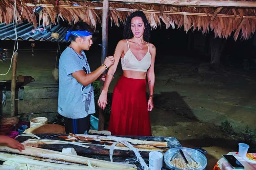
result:
[[[93,29],[84,22],[76,23],[68,31],[71,44],[59,60],[58,113],[64,116],[66,133],[86,134],[90,129],[90,114],[95,113],[93,83],[105,80],[102,73],[114,64],[114,57],[106,57],[104,64],[91,72],[83,50],[93,44]]]

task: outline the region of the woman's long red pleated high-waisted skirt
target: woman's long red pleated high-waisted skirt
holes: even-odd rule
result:
[[[112,135],[151,136],[146,88],[146,79],[120,77],[113,91],[108,128]]]

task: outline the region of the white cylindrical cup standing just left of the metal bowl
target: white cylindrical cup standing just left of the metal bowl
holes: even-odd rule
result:
[[[161,152],[152,151],[148,154],[149,168],[151,170],[161,170],[163,166],[163,154]]]

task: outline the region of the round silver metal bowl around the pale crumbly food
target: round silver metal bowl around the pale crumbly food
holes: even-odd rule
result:
[[[195,169],[195,170],[205,170],[205,167],[207,165],[207,159],[206,157],[199,151],[195,149],[191,149],[188,147],[175,147],[172,149],[169,149],[164,154],[164,162],[166,164],[166,167],[173,170],[183,170],[180,168],[176,168],[170,164],[170,160],[174,158],[182,158],[181,154],[179,153],[179,149],[181,149],[188,160],[188,162],[192,161],[192,158],[200,163],[201,168]],[[192,158],[191,158],[192,157]]]

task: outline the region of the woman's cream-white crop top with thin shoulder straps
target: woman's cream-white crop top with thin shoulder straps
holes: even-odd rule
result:
[[[149,43],[148,43],[148,52],[145,56],[139,61],[135,55],[132,53],[129,47],[128,40],[128,51],[121,58],[122,70],[132,70],[132,71],[143,71],[146,72],[151,65],[151,54],[149,53]]]

